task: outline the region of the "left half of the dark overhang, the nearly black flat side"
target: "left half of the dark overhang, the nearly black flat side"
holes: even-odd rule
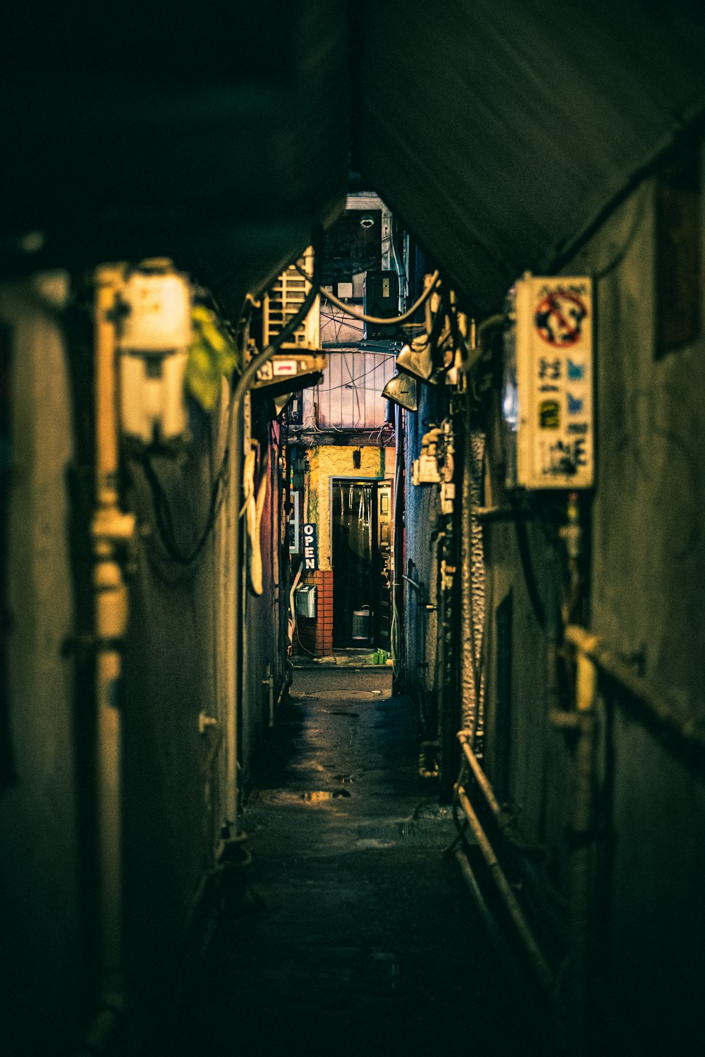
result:
[[[0,272],[166,255],[236,316],[344,208],[345,0],[5,15]]]

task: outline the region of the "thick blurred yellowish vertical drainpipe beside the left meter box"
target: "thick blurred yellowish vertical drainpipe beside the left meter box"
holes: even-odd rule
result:
[[[118,505],[115,289],[117,267],[95,273],[95,509],[93,587],[96,650],[96,829],[99,912],[99,1006],[87,1040],[93,1049],[113,1034],[122,1008],[121,648],[128,591],[119,550],[134,536],[134,515]]]

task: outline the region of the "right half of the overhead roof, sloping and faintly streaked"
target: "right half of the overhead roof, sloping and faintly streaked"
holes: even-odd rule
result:
[[[479,314],[701,113],[692,2],[368,0],[359,164]]]

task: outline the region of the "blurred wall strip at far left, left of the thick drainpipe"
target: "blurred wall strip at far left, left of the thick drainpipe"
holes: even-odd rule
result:
[[[72,409],[60,311],[66,277],[0,288],[9,327],[9,748],[0,793],[0,977],[8,1053],[59,1053],[85,1008],[66,469]],[[4,784],[4,783],[3,783]]]

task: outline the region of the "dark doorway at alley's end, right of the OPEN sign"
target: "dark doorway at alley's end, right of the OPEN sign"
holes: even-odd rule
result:
[[[331,478],[334,648],[390,648],[392,482]]]

